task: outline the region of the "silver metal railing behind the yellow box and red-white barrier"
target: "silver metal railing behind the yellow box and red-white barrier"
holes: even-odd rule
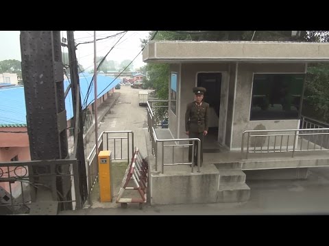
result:
[[[109,135],[120,136],[109,137]],[[124,136],[122,137],[122,135]],[[119,143],[117,143],[117,139],[119,139]],[[127,141],[127,148],[123,148],[125,146],[125,143],[123,141]],[[129,164],[130,156],[134,154],[134,133],[132,131],[103,131],[98,137],[98,146],[99,151],[111,150],[112,160],[127,160],[127,164]],[[98,180],[99,169],[97,159],[98,153],[96,154],[95,144],[86,159],[89,202],[91,202],[90,193],[91,191],[93,191],[95,182],[97,182]]]

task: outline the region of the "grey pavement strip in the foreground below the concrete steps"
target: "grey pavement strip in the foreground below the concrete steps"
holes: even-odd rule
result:
[[[247,182],[250,200],[230,204],[180,204],[88,208],[60,215],[329,215],[329,170],[310,169],[307,180]]]

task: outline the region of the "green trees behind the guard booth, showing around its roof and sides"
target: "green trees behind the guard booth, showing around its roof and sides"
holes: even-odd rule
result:
[[[154,36],[154,33],[155,31],[150,31],[149,38],[141,39],[142,48]],[[329,42],[329,31],[300,31],[300,35],[295,37],[291,36],[291,31],[158,31],[154,40]],[[149,74],[147,83],[156,89],[158,98],[168,98],[169,66],[147,64],[146,71]],[[328,81],[329,65],[315,64],[308,68],[304,115],[329,121]]]

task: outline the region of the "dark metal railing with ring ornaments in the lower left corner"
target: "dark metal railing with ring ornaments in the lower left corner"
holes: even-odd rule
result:
[[[12,161],[0,163],[0,214],[29,213],[29,207],[36,200],[38,189],[49,189],[53,199],[63,207],[82,208],[79,174],[76,159],[49,161]],[[62,178],[74,182],[74,194],[68,200],[56,187],[56,180]],[[42,181],[41,181],[42,180]],[[48,180],[47,184],[43,181]]]

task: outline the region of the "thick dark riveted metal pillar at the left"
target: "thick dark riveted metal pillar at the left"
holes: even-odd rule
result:
[[[22,78],[32,160],[68,157],[60,47],[60,31],[21,31]],[[29,174],[40,174],[42,170],[45,171],[45,167],[36,167],[29,170]],[[67,174],[69,167],[59,167],[54,172]],[[58,201],[72,200],[69,176],[39,176],[38,183],[42,186],[32,193],[32,202],[52,201],[60,209],[72,209],[71,202],[58,204]],[[55,189],[57,195],[46,187]]]

